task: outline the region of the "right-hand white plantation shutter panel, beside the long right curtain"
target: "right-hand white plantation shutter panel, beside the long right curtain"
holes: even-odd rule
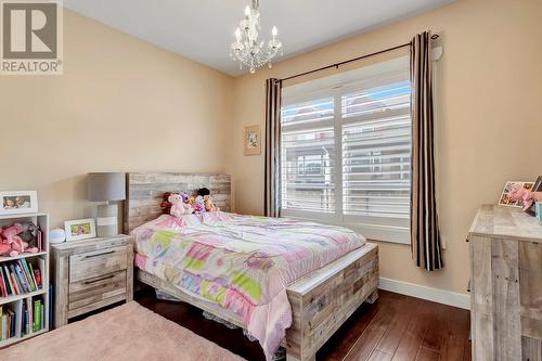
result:
[[[409,82],[398,81],[345,94],[341,108],[343,118],[350,120],[341,127],[344,214],[408,220]]]

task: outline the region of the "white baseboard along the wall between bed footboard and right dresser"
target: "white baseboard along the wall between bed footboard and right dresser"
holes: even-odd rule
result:
[[[455,292],[421,286],[418,284],[380,278],[380,289],[397,294],[427,299],[434,302],[450,305],[466,310],[470,309],[470,297]]]

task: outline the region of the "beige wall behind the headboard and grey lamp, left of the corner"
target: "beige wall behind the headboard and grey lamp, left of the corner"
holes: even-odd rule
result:
[[[73,12],[63,76],[0,77],[0,190],[85,216],[88,171],[231,172],[233,79]]]

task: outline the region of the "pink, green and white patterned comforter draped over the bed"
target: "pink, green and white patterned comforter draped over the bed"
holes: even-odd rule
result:
[[[286,287],[365,242],[345,228],[221,211],[163,215],[132,234],[137,267],[235,312],[268,360],[292,324]]]

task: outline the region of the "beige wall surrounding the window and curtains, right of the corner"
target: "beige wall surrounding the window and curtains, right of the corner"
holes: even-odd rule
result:
[[[235,78],[236,210],[261,214],[263,155],[243,156],[243,126],[263,127],[264,79],[284,77],[410,41],[441,35],[438,191],[446,268],[426,273],[410,248],[379,243],[382,276],[464,293],[465,236],[478,205],[494,203],[506,180],[542,173],[542,1],[460,1]],[[287,43],[285,44],[287,47]],[[262,128],[263,129],[263,128]]]

